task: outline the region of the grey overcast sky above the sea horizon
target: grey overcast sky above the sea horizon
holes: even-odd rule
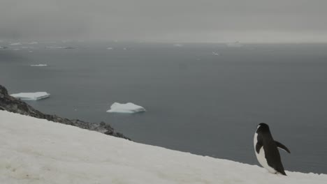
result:
[[[0,39],[327,42],[327,0],[0,0]]]

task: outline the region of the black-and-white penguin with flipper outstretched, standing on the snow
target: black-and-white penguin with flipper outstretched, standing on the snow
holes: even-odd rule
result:
[[[254,152],[256,153],[256,158],[261,166],[270,173],[286,176],[278,148],[291,153],[289,148],[286,148],[286,146],[273,139],[269,126],[266,123],[260,123],[254,134]]]

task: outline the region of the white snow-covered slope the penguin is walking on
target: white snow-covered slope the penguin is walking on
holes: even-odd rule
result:
[[[0,111],[0,183],[327,183]]]

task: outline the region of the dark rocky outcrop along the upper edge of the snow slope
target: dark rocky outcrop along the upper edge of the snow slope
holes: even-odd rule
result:
[[[47,119],[48,121],[54,121],[66,125],[73,125],[79,128],[101,132],[106,135],[112,135],[115,137],[129,139],[128,137],[122,135],[122,133],[116,132],[108,123],[104,123],[104,122],[88,123],[85,121],[80,121],[78,119],[68,119],[68,118],[61,118],[57,115],[43,114],[42,112],[39,112],[38,110],[28,105],[26,102],[23,102],[22,100],[13,98],[12,96],[8,95],[7,89],[1,85],[0,85],[0,110],[14,112],[18,114],[24,114],[35,118],[43,118],[43,119]]]

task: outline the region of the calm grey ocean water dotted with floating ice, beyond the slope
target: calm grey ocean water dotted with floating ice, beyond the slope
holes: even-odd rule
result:
[[[327,173],[327,45],[1,44],[9,48],[0,50],[0,84],[10,93],[51,93],[29,102],[42,112],[105,121],[136,142],[249,164],[259,164],[253,137],[265,122],[291,150],[280,151],[286,170]],[[38,63],[48,66],[30,66]],[[106,113],[113,102],[147,112]]]

